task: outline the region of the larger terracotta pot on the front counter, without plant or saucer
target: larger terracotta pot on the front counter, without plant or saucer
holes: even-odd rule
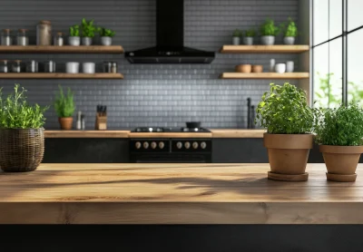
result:
[[[304,174],[312,142],[312,134],[264,133],[263,145],[268,150],[271,172],[286,175]]]

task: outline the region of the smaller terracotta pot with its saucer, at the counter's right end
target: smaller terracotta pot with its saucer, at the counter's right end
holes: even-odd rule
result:
[[[363,146],[320,145],[325,165],[327,179],[339,182],[353,182],[357,179],[357,166]]]

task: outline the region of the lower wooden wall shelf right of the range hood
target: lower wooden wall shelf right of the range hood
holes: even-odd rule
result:
[[[307,79],[309,73],[221,73],[221,79]]]

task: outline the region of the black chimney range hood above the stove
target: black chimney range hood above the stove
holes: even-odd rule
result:
[[[211,63],[214,52],[184,46],[184,1],[156,0],[154,47],[126,52],[130,63]]]

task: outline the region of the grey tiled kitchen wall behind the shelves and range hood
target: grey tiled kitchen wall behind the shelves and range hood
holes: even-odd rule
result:
[[[204,50],[218,51],[231,44],[235,28],[258,27],[266,17],[278,23],[289,16],[298,19],[298,0],[185,0],[184,42]],[[155,44],[154,0],[1,0],[0,28],[27,28],[30,42],[35,43],[35,25],[50,20],[54,32],[67,32],[68,26],[81,18],[94,19],[98,25],[116,31],[113,44],[126,51]],[[14,31],[15,33],[15,31]],[[281,44],[282,38],[277,40]],[[108,106],[109,127],[132,128],[161,125],[183,126],[184,121],[202,121],[212,128],[245,128],[247,101],[257,104],[270,82],[283,80],[219,80],[219,74],[233,72],[239,63],[263,64],[268,69],[270,58],[278,63],[294,60],[296,54],[216,54],[206,65],[130,64],[123,55],[107,54],[1,54],[3,59],[54,60],[59,71],[67,61],[117,61],[124,80],[0,80],[4,92],[15,82],[28,90],[30,102],[51,104],[57,85],[75,92],[77,111],[86,114],[86,126],[93,129],[94,111],[98,103]],[[296,81],[290,81],[297,83]],[[46,112],[45,128],[58,128],[54,109]]]

